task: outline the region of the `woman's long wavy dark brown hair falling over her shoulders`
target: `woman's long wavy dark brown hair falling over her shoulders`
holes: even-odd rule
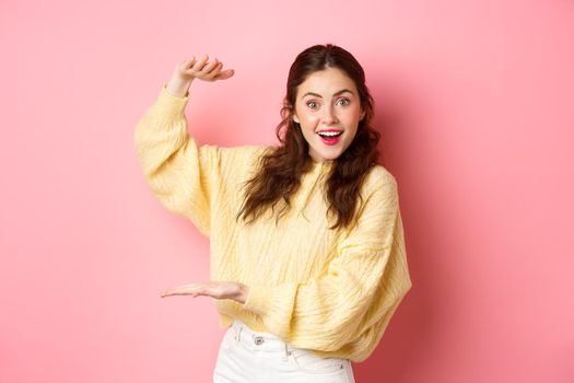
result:
[[[359,123],[356,135],[347,150],[335,160],[327,179],[327,214],[337,214],[336,223],[329,229],[347,228],[353,222],[359,199],[363,200],[360,189],[363,181],[378,160],[377,144],[380,135],[370,125],[374,116],[374,101],[365,85],[365,73],[356,59],[347,50],[332,44],[315,45],[303,50],[295,58],[289,70],[286,95],[280,111],[281,123],[276,128],[278,147],[261,155],[260,171],[244,185],[244,204],[237,213],[247,223],[256,220],[267,209],[281,200],[283,208],[277,220],[291,207],[291,196],[301,186],[301,176],[312,169],[309,146],[292,118],[297,86],[307,76],[327,68],[338,68],[353,80],[359,91],[361,106],[365,112]],[[276,223],[277,223],[276,220]]]

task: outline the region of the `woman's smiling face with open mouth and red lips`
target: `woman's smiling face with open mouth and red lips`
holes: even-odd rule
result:
[[[365,113],[356,86],[345,72],[327,68],[297,86],[293,120],[309,144],[315,162],[333,160],[353,141]]]

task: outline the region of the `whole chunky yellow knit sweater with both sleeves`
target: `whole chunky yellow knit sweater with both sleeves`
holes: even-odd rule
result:
[[[245,304],[214,300],[222,327],[238,318],[319,356],[365,360],[412,286],[395,177],[380,165],[368,173],[352,228],[328,229],[333,160],[314,162],[277,227],[270,209],[251,225],[236,222],[242,183],[271,147],[199,146],[187,131],[188,97],[164,84],[136,127],[136,150],[160,202],[209,237],[211,280],[249,287]]]

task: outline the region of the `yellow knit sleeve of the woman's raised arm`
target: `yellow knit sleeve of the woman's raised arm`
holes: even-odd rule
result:
[[[220,172],[221,148],[198,146],[187,131],[185,106],[163,85],[155,103],[139,120],[136,151],[148,184],[169,211],[191,220],[209,237],[210,198]]]

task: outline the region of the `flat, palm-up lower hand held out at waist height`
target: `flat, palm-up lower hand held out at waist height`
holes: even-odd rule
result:
[[[232,281],[207,283],[190,283],[172,288],[162,292],[161,297],[169,295],[207,295],[215,299],[232,299],[245,303],[249,288],[246,285]]]

